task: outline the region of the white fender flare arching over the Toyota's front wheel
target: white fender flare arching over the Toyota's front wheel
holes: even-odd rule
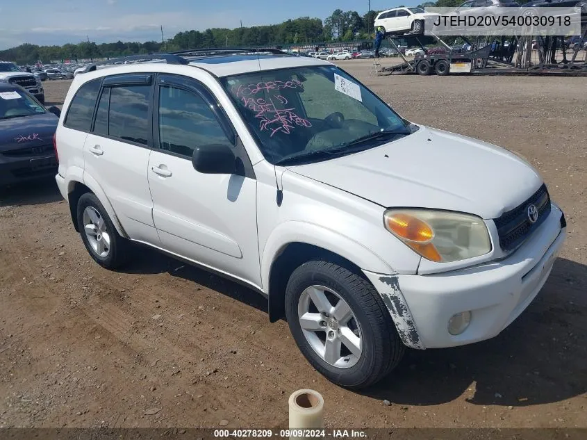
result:
[[[270,275],[274,261],[290,243],[306,243],[338,254],[358,268],[379,273],[395,273],[380,256],[363,244],[332,229],[314,223],[289,220],[276,227],[265,242],[261,256],[261,283],[263,292],[269,292]]]

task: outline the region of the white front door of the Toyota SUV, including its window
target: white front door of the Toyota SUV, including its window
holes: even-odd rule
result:
[[[148,174],[162,247],[260,286],[254,176],[202,174],[192,165],[197,145],[229,145],[238,157],[238,136],[194,79],[160,75],[155,93]]]

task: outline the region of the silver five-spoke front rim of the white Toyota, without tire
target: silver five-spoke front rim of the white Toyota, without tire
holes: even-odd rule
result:
[[[308,287],[299,297],[297,313],[306,341],[328,364],[351,368],[361,358],[361,329],[338,293],[324,286]]]

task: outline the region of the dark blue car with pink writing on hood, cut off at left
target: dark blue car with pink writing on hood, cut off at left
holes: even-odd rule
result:
[[[0,187],[55,175],[58,115],[19,85],[0,83]]]

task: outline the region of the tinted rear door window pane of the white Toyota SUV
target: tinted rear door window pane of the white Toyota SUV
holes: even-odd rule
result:
[[[147,145],[150,85],[124,85],[110,90],[108,135]]]

